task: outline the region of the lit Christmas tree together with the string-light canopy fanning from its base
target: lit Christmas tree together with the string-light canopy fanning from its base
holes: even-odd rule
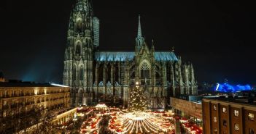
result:
[[[129,98],[129,112],[111,114],[109,130],[112,133],[167,133],[174,130],[174,125],[162,116],[164,112],[146,112],[147,100],[143,93],[143,88],[139,88],[139,82],[136,82]]]

